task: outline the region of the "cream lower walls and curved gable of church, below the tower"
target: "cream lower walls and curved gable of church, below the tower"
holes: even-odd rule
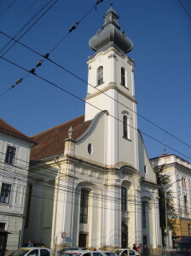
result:
[[[104,142],[107,133],[103,131],[106,131],[107,114],[101,113],[93,123],[90,131],[86,131],[76,143],[72,139],[66,141],[66,152],[56,158],[56,162],[54,157],[53,160],[42,162],[43,168],[38,165],[32,167],[32,183],[39,190],[36,193],[38,198],[32,200],[25,238],[38,239],[48,247],[59,250],[64,245],[78,246],[79,233],[83,233],[88,237],[87,247],[121,247],[121,224],[124,221],[128,226],[128,247],[142,242],[144,235],[148,237],[148,247],[156,252],[160,246],[159,222],[156,218],[156,215],[159,216],[159,207],[156,203],[158,188],[153,169],[149,166],[147,181],[127,162],[119,162],[117,166],[99,162],[99,155],[104,156],[106,150]],[[93,154],[88,154],[88,143],[92,143]],[[142,158],[142,165],[146,162],[147,154]],[[50,179],[48,170],[51,170],[52,179],[55,175],[55,189],[50,190],[54,193],[54,203],[47,201],[50,191],[43,189]],[[41,177],[40,181],[38,177]],[[127,189],[126,211],[121,210],[122,186]],[[79,222],[81,189],[90,191],[87,224]],[[142,229],[142,201],[148,202],[148,225],[145,230]],[[48,233],[40,227],[44,214],[49,219]],[[65,239],[61,237],[64,232],[67,235]]]

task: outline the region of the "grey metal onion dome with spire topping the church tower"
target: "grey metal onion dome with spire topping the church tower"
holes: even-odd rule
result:
[[[127,38],[124,32],[121,32],[118,25],[119,15],[114,11],[112,4],[103,16],[105,22],[102,26],[102,31],[98,30],[95,36],[90,38],[89,46],[95,51],[101,51],[114,46],[121,49],[124,53],[130,52],[133,48],[133,43],[130,38]]]

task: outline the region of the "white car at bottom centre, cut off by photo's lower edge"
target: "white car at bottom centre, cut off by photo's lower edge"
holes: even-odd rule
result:
[[[75,250],[61,253],[60,256],[118,256],[116,253],[107,251]]]

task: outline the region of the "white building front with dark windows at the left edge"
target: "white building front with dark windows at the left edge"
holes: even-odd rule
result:
[[[18,133],[9,131],[9,125],[7,131],[0,129],[0,226],[11,233],[7,250],[15,250],[22,245],[26,183],[32,146],[29,138]]]

